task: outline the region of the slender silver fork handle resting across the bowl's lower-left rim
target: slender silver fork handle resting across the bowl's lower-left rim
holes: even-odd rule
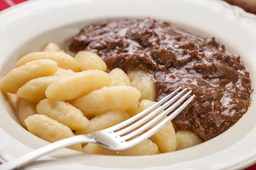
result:
[[[91,136],[91,135],[78,135],[78,136],[72,136],[70,138],[62,139],[57,142],[47,144],[44,147],[40,147],[39,149],[33,150],[32,152],[29,152],[23,156],[20,156],[17,159],[3,163],[0,165],[0,170],[13,170],[15,168],[26,165],[29,162],[41,156],[44,156],[47,153],[51,153],[55,150],[58,150],[60,148],[67,147],[73,144],[92,143],[92,142],[96,142],[96,141],[94,139],[94,136]]]

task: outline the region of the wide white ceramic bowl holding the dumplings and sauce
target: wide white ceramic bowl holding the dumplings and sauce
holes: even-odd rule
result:
[[[37,0],[22,3],[0,12],[0,77],[15,68],[18,58],[39,51],[47,42],[67,49],[67,42],[89,23],[113,17],[146,16],[168,20],[203,37],[215,36],[226,45],[227,51],[241,55],[256,84],[256,16],[218,0]],[[102,167],[228,170],[246,167],[256,161],[255,96],[252,100],[248,112],[233,127],[195,147],[133,157],[87,155],[62,149],[29,167],[40,170],[57,167],[65,170]],[[2,159],[13,159],[48,143],[20,126],[12,98],[4,93],[0,94],[0,112]]]

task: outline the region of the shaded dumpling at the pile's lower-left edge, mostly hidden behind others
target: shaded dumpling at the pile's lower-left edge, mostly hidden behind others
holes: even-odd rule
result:
[[[36,103],[30,102],[27,99],[17,98],[17,118],[23,127],[26,127],[25,119],[31,115],[37,114]]]

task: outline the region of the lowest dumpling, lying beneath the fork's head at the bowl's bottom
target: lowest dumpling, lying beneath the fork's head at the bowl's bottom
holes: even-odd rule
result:
[[[158,147],[151,141],[144,140],[140,144],[135,145],[127,150],[109,150],[105,147],[99,146],[94,143],[87,144],[83,151],[91,154],[102,154],[102,155],[117,155],[117,156],[141,156],[141,155],[153,155],[158,152]]]

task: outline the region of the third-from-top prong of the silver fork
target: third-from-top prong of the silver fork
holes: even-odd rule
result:
[[[153,120],[151,120],[150,122],[146,123],[145,125],[143,125],[142,127],[138,128],[137,130],[134,130],[133,132],[119,137],[118,140],[120,142],[123,142],[125,140],[131,139],[134,136],[144,132],[145,130],[147,130],[149,127],[153,126],[154,124],[156,124],[158,121],[160,121],[164,116],[166,116],[168,113],[170,113],[171,111],[173,111],[175,108],[177,108],[178,105],[180,105],[187,96],[189,96],[189,94],[191,94],[192,91],[189,91],[188,93],[186,93],[184,96],[182,96],[177,102],[175,102],[172,106],[170,106],[166,111],[164,111],[163,113],[160,113],[157,117],[155,117]]]

